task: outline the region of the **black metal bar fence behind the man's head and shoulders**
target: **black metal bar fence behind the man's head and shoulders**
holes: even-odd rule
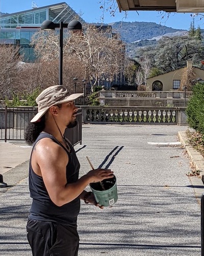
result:
[[[24,140],[24,131],[30,120],[37,113],[37,108],[18,107],[7,108],[0,106],[0,140]],[[66,129],[65,137],[67,137],[73,145],[82,142],[82,111],[77,113],[77,126]]]

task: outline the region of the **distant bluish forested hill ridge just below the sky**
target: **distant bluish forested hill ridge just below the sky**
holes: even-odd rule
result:
[[[182,31],[153,22],[115,22],[109,25],[112,26],[113,32],[119,33],[121,35],[121,39],[126,43],[152,38],[156,39],[156,37],[164,34]]]

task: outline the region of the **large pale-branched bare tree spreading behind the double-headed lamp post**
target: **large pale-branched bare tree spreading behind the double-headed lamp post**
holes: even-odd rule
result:
[[[35,53],[45,61],[59,58],[59,35],[56,32],[37,32],[33,37]],[[80,61],[80,71],[84,78],[93,82],[101,78],[114,78],[121,70],[121,56],[124,46],[117,35],[110,30],[90,26],[86,32],[64,33],[64,59],[75,63]],[[75,69],[77,70],[77,69]],[[84,73],[83,73],[84,72]],[[76,75],[75,75],[76,76]]]

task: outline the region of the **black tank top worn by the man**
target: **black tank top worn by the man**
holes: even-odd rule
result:
[[[35,141],[35,144],[42,138],[50,138],[64,148],[69,157],[69,162],[66,166],[67,183],[76,182],[79,179],[80,163],[72,145],[69,143],[71,149],[69,153],[68,150],[53,135],[48,133],[41,133]],[[35,147],[35,144],[33,148]],[[78,197],[70,203],[62,206],[57,206],[54,204],[49,198],[42,177],[34,173],[31,166],[31,159],[29,168],[29,188],[31,198],[33,198],[29,215],[30,219],[52,221],[63,225],[77,226],[77,216],[80,211],[80,198]]]

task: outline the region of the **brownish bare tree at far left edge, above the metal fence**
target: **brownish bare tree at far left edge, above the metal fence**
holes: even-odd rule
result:
[[[0,45],[0,98],[10,96],[19,84],[16,79],[19,73],[19,48],[13,45]]]

